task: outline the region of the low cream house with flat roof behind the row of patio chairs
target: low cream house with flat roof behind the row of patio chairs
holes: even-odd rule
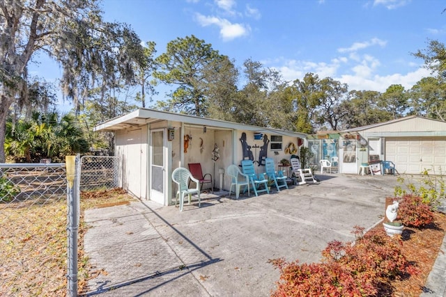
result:
[[[266,157],[278,164],[298,154],[307,140],[307,134],[298,132],[152,109],[108,120],[94,131],[114,132],[121,186],[138,198],[163,205],[172,204],[176,195],[171,180],[175,168],[201,163],[203,174],[213,175],[208,187],[229,190],[230,178],[224,171],[230,164],[252,159],[262,173]]]

